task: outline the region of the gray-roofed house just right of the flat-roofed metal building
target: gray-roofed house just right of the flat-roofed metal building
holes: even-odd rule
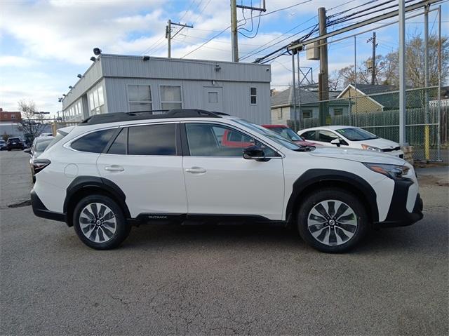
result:
[[[340,91],[330,91],[330,99],[335,98]],[[319,96],[317,91],[296,88],[297,111],[302,119],[319,117]],[[293,119],[293,86],[272,95],[272,124],[287,125]],[[330,100],[328,109],[330,116],[349,114],[350,102],[345,99]]]

